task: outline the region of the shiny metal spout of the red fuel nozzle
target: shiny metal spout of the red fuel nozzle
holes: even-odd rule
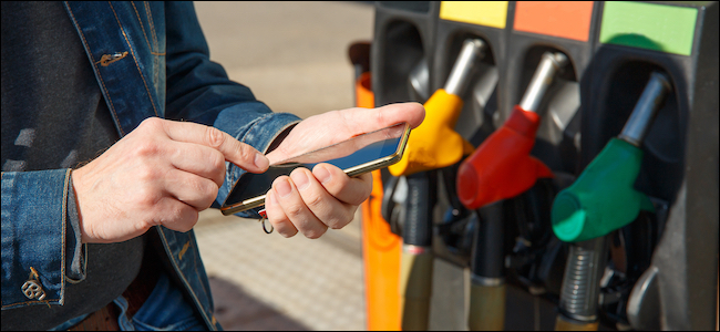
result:
[[[569,60],[562,52],[545,52],[525,91],[525,95],[523,95],[523,100],[520,102],[520,106],[525,111],[537,112],[545,91],[553,83],[553,77],[568,62]]]

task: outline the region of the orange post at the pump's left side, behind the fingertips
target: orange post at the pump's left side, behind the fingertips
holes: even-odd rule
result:
[[[358,107],[374,107],[370,73],[356,82]],[[362,258],[369,331],[400,331],[400,252],[402,238],[390,231],[382,218],[382,179],[372,172],[372,193],[362,204]]]

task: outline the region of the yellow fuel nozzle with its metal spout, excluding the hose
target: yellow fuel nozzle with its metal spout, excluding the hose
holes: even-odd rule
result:
[[[393,176],[448,167],[474,151],[454,127],[463,108],[460,95],[485,48],[480,39],[465,40],[444,89],[435,91],[425,102],[425,120],[410,133],[402,159],[388,167]]]

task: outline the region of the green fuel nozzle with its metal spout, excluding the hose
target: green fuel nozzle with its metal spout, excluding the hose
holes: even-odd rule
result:
[[[654,72],[623,132],[593,159],[577,180],[553,203],[553,231],[566,242],[585,241],[630,224],[640,209],[652,211],[647,195],[632,186],[640,172],[642,138],[665,95],[672,90]]]

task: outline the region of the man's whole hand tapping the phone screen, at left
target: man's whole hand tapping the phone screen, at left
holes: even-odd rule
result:
[[[163,225],[187,231],[225,178],[225,160],[251,173],[268,159],[200,124],[152,117],[72,172],[83,242],[120,242]]]

